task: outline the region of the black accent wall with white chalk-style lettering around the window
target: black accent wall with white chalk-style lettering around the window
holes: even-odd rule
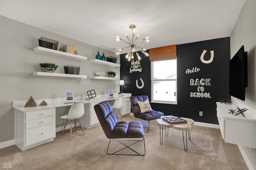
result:
[[[204,57],[201,61],[202,53]],[[125,58],[126,54],[120,55],[120,78],[125,83],[123,93],[132,93],[133,96],[148,95],[150,98],[150,60],[144,54],[139,54],[142,57],[140,63],[136,62],[136,56],[134,62],[128,62]],[[211,55],[212,62],[208,61]],[[230,38],[177,45],[177,57],[178,104],[150,103],[151,107],[162,111],[164,115],[176,115],[197,122],[218,124],[216,101],[230,99],[228,93]],[[138,85],[142,85],[140,78],[144,81],[142,89],[136,87],[136,79]],[[204,97],[197,97],[199,93]],[[199,111],[203,112],[202,117],[199,116]]]

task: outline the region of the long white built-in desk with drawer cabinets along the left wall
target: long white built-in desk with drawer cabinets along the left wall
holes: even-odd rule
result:
[[[94,111],[94,105],[102,101],[114,101],[109,99],[108,95],[97,95],[98,100],[81,100],[81,97],[74,97],[76,102],[84,102],[85,113],[80,121],[84,128],[92,128],[100,125],[98,117]],[[122,116],[130,114],[130,93],[123,93]],[[20,150],[27,150],[40,144],[53,141],[56,137],[56,108],[70,106],[64,104],[65,98],[58,99],[41,99],[35,100],[37,107],[24,107],[27,101],[14,101],[12,107],[15,112],[15,132],[14,141]],[[48,105],[39,106],[42,101],[46,101]],[[111,104],[111,102],[110,102]]]

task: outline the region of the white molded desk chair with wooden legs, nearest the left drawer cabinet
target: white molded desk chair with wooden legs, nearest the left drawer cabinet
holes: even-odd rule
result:
[[[61,119],[67,119],[65,126],[62,130],[62,135],[64,133],[64,130],[66,128],[67,122],[68,125],[70,125],[70,140],[71,140],[71,134],[72,134],[72,124],[74,123],[75,131],[76,131],[76,124],[79,124],[84,132],[84,128],[82,126],[82,123],[80,121],[80,118],[84,115],[84,102],[76,102],[74,103],[68,112],[68,115],[60,117]],[[70,121],[68,121],[70,120]],[[85,134],[85,133],[84,133]]]

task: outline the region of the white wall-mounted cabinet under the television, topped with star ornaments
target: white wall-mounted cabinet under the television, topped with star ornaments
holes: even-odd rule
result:
[[[256,119],[250,114],[250,109],[244,113],[245,118],[241,114],[234,116],[229,113],[229,109],[235,110],[236,105],[220,102],[216,104],[220,132],[225,142],[256,148]],[[240,109],[243,108],[240,107]]]

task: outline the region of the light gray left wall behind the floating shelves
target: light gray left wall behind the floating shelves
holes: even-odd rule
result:
[[[96,94],[108,94],[108,89],[119,92],[118,80],[74,79],[62,77],[33,76],[32,72],[42,71],[40,62],[52,62],[59,65],[55,73],[64,73],[64,65],[80,66],[80,75],[93,76],[96,71],[115,71],[120,77],[120,67],[109,67],[90,63],[97,51],[105,56],[115,56],[111,51],[82,43],[65,36],[54,34],[9,18],[0,16],[0,142],[14,139],[14,109],[12,101],[34,99],[52,99],[65,97],[66,91],[73,91],[74,96],[95,89]],[[70,30],[72,31],[72,30]],[[86,34],[86,33],[85,33]],[[90,34],[90,33],[87,33]],[[58,49],[66,44],[75,46],[78,55],[88,57],[79,61],[56,55],[47,55],[33,51],[38,46],[38,38],[46,37],[59,42]],[[120,63],[118,57],[117,63]],[[69,107],[56,109],[56,127],[64,125],[59,117],[68,112]]]

